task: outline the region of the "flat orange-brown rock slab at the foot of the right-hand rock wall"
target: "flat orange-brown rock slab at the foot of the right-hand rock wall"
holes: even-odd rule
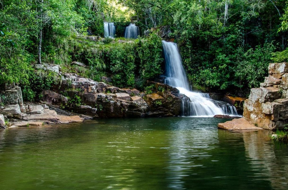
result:
[[[252,125],[244,118],[233,119],[232,121],[226,121],[225,123],[218,123],[219,129],[226,130],[260,130],[262,128]]]

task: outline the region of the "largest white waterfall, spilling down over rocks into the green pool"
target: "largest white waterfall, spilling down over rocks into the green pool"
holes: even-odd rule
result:
[[[236,108],[231,104],[212,100],[206,93],[191,91],[177,44],[164,40],[162,44],[166,63],[165,84],[176,87],[181,94],[189,97],[189,100],[185,98],[182,100],[183,115],[202,117],[237,115]]]

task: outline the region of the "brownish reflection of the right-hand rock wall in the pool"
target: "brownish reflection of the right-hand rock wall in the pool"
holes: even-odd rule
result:
[[[288,183],[287,144],[271,143],[271,131],[243,132],[246,156],[255,179],[267,178],[273,189],[286,189]],[[275,147],[276,146],[276,147]],[[281,146],[278,150],[277,146]]]

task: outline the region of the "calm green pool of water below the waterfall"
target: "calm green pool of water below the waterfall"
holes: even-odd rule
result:
[[[287,189],[288,146],[216,118],[0,131],[0,189]]]

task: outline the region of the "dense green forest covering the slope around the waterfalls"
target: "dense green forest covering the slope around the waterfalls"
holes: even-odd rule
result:
[[[165,40],[178,44],[192,86],[202,91],[258,87],[268,63],[288,59],[284,0],[1,0],[0,21],[0,83],[19,84],[27,100],[61,82],[35,64],[143,90],[164,72],[163,30]],[[103,38],[103,22],[114,22],[116,39]],[[140,36],[118,43],[130,22]]]

